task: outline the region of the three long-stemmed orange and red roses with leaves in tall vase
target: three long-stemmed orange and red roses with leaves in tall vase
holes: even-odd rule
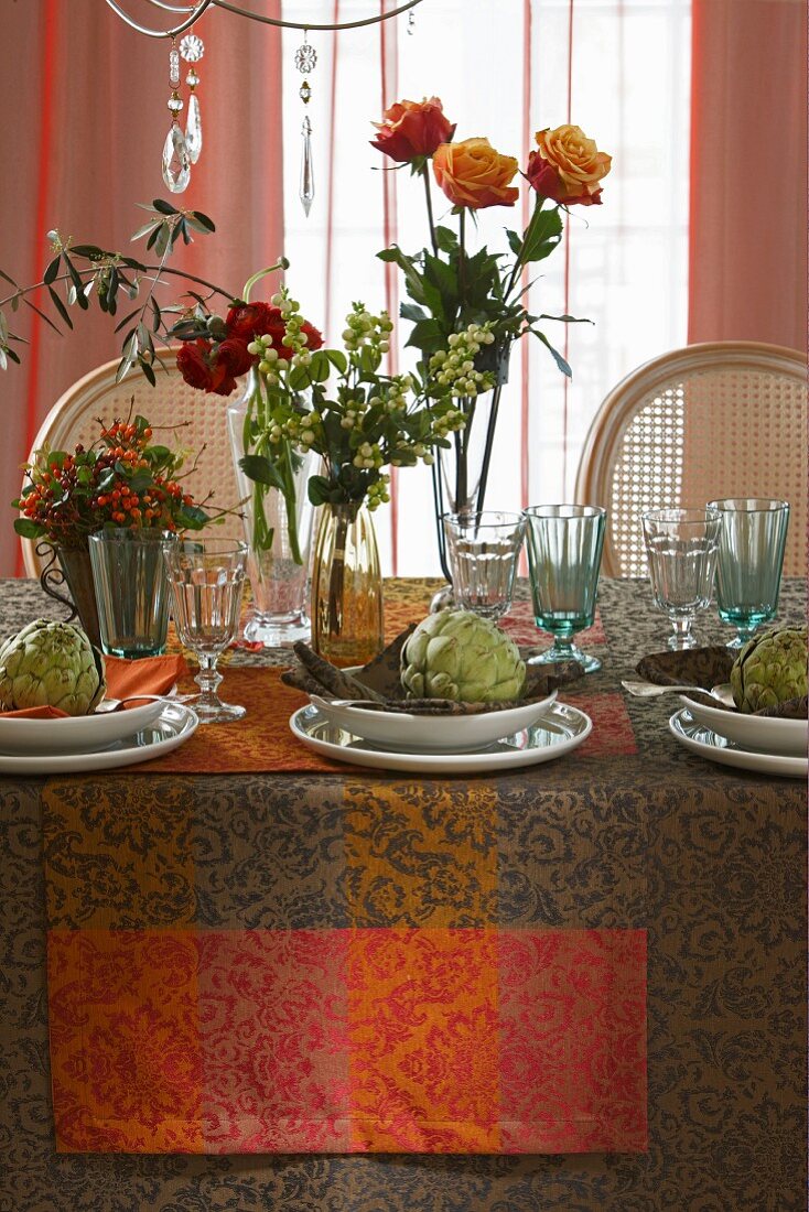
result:
[[[438,468],[433,476],[446,573],[440,526],[444,491],[451,511],[483,508],[513,343],[534,336],[559,370],[571,373],[542,321],[581,321],[571,315],[529,310],[525,270],[548,257],[560,242],[562,212],[571,206],[600,205],[600,182],[610,171],[611,159],[579,126],[539,131],[536,150],[522,173],[534,196],[526,228],[522,233],[506,229],[509,252],[490,252],[485,246],[471,252],[468,221],[492,206],[513,207],[519,198],[514,184],[517,159],[502,155],[486,138],[452,142],[456,126],[444,114],[438,97],[398,102],[376,127],[372,147],[398,165],[409,165],[411,173],[421,177],[429,230],[429,246],[415,255],[393,245],[378,256],[399,265],[404,274],[410,302],[400,310],[412,322],[408,345],[420,354],[425,396],[438,400],[449,390],[466,421],[455,434],[451,457],[443,459],[444,478]],[[456,228],[435,222],[433,182],[451,202]]]

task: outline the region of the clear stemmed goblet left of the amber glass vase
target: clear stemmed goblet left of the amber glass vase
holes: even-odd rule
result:
[[[195,681],[201,693],[192,705],[200,724],[239,720],[245,708],[223,703],[217,694],[222,674],[216,662],[239,627],[247,544],[226,538],[183,539],[166,543],[164,559],[177,634],[199,661]]]

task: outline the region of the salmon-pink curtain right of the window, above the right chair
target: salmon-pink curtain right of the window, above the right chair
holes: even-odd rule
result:
[[[807,344],[807,6],[693,0],[689,342]]]

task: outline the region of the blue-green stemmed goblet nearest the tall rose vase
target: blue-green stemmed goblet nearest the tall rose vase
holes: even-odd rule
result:
[[[602,668],[572,642],[592,627],[602,566],[606,510],[599,505],[531,505],[528,521],[528,566],[534,595],[534,619],[553,636],[553,647],[529,664],[577,661],[586,674]]]

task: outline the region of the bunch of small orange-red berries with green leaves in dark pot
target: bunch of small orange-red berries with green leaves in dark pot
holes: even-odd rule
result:
[[[153,445],[146,417],[99,424],[98,441],[89,448],[38,451],[25,467],[28,482],[12,502],[22,511],[15,521],[18,534],[86,550],[87,537],[107,527],[201,530],[221,516],[183,491],[183,454]]]

